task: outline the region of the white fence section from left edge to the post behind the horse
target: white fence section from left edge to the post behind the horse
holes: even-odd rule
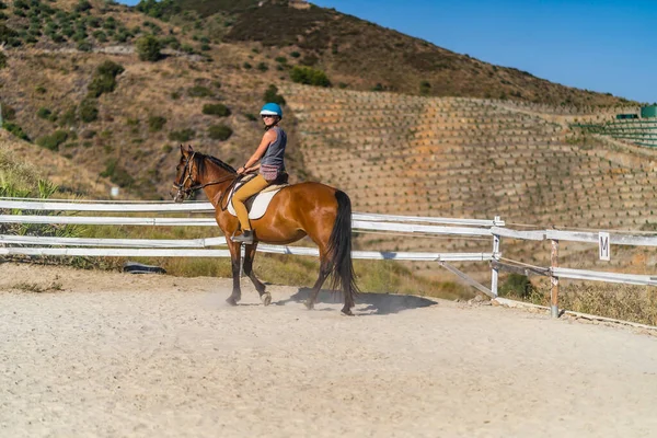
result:
[[[0,223],[37,224],[92,224],[92,226],[157,226],[157,227],[217,227],[215,218],[205,217],[114,217],[73,216],[77,212],[147,212],[147,214],[208,214],[215,209],[209,203],[116,203],[116,201],[69,201],[1,198],[0,209],[15,211],[0,215]],[[56,211],[58,215],[21,215],[22,211]],[[353,230],[406,233],[410,235],[462,235],[471,238],[493,238],[491,228],[504,226],[495,220],[460,218],[425,218],[416,216],[377,215],[355,212]],[[227,250],[210,249],[224,246],[222,237],[191,240],[147,240],[147,239],[83,239],[49,238],[34,235],[0,235],[0,255],[49,255],[49,256],[157,256],[157,257],[229,257]],[[19,246],[20,245],[20,246]],[[30,247],[25,247],[25,245]],[[48,247],[46,247],[48,246]],[[58,246],[58,247],[53,247]],[[76,246],[76,247],[60,247]],[[82,247],[80,247],[82,246]],[[319,256],[314,247],[281,246],[260,244],[258,252]],[[447,262],[489,262],[494,253],[429,253],[392,251],[354,251],[354,258],[394,260],[413,262],[439,262],[450,270],[465,276]],[[466,276],[465,276],[466,277]],[[472,280],[473,281],[473,280]],[[480,290],[495,296],[491,289],[479,285]]]

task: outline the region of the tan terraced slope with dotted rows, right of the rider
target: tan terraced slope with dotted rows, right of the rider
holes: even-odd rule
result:
[[[538,228],[645,229],[657,221],[657,155],[584,141],[568,129],[573,119],[609,114],[298,85],[287,87],[285,95],[299,120],[308,170],[349,193],[356,210],[500,216]],[[399,250],[491,250],[487,240],[361,239],[368,242]]]

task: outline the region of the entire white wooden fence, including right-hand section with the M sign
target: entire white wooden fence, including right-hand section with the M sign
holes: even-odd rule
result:
[[[148,214],[208,214],[214,212],[209,203],[117,203],[117,201],[70,201],[0,198],[0,209],[16,214],[0,215],[0,223],[42,223],[42,224],[95,224],[95,226],[158,226],[158,227],[216,227],[214,217],[111,217],[111,216],[73,216],[73,212],[148,212]],[[21,211],[57,211],[60,215],[21,215]],[[61,215],[61,214],[65,215]],[[491,238],[491,253],[424,253],[424,252],[377,252],[354,251],[354,258],[395,260],[439,262],[469,284],[491,297],[497,296],[498,270],[500,263],[500,240],[529,240],[552,242],[552,264],[549,268],[537,267],[537,272],[549,273],[552,277],[552,313],[558,315],[557,297],[558,279],[580,279],[630,285],[657,286],[657,276],[633,275],[584,269],[570,269],[557,266],[558,242],[585,242],[598,244],[597,232],[567,230],[532,230],[521,231],[505,227],[499,218],[492,220],[429,218],[415,216],[359,214],[353,215],[354,231],[379,231],[423,234],[453,235],[463,238]],[[631,232],[609,232],[609,244],[657,246],[657,235],[636,235]],[[47,238],[31,235],[0,235],[0,255],[68,255],[68,256],[176,256],[176,257],[228,257],[227,250],[211,249],[226,245],[222,237],[191,240],[146,240],[146,239],[81,239]],[[19,246],[20,245],[20,246]],[[26,246],[27,247],[26,247]],[[53,247],[57,246],[57,247]],[[61,247],[76,246],[76,247]],[[313,247],[258,245],[258,252],[318,256]],[[495,262],[492,264],[491,288],[477,284],[447,262]]]

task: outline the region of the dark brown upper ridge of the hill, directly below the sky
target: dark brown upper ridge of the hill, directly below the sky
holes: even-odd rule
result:
[[[191,12],[200,18],[221,16],[228,28],[223,42],[293,47],[301,65],[326,71],[339,88],[551,105],[627,103],[609,93],[567,88],[515,68],[482,62],[333,9],[287,4],[275,0],[165,0],[155,5],[151,0],[142,1],[140,9],[171,21]]]

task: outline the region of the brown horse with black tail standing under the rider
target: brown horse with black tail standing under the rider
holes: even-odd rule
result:
[[[240,290],[240,243],[230,237],[239,227],[238,218],[228,212],[228,192],[239,175],[229,164],[214,157],[195,152],[192,147],[181,146],[181,160],[176,168],[174,188],[176,203],[182,203],[192,192],[203,188],[215,207],[215,218],[226,235],[232,262],[233,290],[226,300],[237,306],[242,297]],[[253,257],[258,242],[288,244],[308,235],[320,249],[320,276],[315,281],[308,309],[314,307],[324,280],[333,275],[333,288],[341,288],[345,297],[343,313],[351,315],[354,297],[358,288],[351,264],[351,201],[336,188],[320,183],[300,183],[278,192],[267,211],[251,221],[253,244],[245,245],[244,273],[251,278],[265,306],[272,296],[253,273]]]

